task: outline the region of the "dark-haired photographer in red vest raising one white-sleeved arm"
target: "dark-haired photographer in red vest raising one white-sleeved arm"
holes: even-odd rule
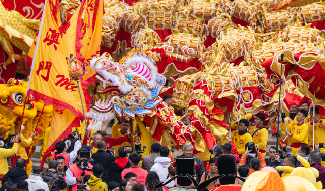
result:
[[[77,151],[81,148],[81,143],[78,139],[79,135],[76,132],[74,132],[74,134],[72,135],[75,139],[75,145],[72,152],[67,153],[66,143],[64,143],[63,141],[59,141],[55,144],[56,150],[52,153],[52,160],[56,160],[56,157],[58,156],[63,156],[67,167],[72,165],[73,161],[77,158]]]

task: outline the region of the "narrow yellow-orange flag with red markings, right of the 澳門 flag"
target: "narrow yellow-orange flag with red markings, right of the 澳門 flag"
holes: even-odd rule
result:
[[[80,54],[85,58],[84,62],[88,71],[83,79],[94,84],[96,72],[91,70],[89,62],[92,57],[101,53],[103,0],[89,0],[89,5],[92,5],[88,6],[89,15],[85,14],[83,19],[84,26],[81,32],[84,37],[80,40],[83,45]]]

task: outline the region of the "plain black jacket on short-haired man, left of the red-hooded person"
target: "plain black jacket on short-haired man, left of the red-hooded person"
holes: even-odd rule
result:
[[[95,164],[100,164],[104,167],[104,174],[103,174],[103,181],[106,183],[110,182],[110,176],[108,174],[109,170],[111,169],[112,162],[115,161],[115,158],[112,154],[107,153],[106,151],[98,150],[96,153],[92,154],[92,157]]]

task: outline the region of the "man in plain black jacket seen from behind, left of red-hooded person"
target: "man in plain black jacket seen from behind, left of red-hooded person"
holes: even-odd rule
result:
[[[115,158],[112,154],[106,152],[106,143],[105,141],[99,141],[97,143],[98,152],[92,154],[95,164],[100,164],[104,167],[104,174],[102,176],[103,181],[110,182],[110,176],[108,174],[112,163],[115,161]]]

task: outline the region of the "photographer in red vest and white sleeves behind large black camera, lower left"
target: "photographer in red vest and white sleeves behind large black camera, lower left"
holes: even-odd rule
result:
[[[79,162],[70,165],[67,172],[66,172],[66,182],[68,185],[72,186],[71,191],[77,191],[77,185],[83,181],[83,178],[86,175],[92,174],[91,170],[92,165],[88,163],[88,168],[81,168],[83,167],[84,163],[88,161],[88,158],[81,158],[80,153],[81,151],[88,151],[85,148],[80,148],[77,152]],[[90,155],[90,152],[89,152]]]

